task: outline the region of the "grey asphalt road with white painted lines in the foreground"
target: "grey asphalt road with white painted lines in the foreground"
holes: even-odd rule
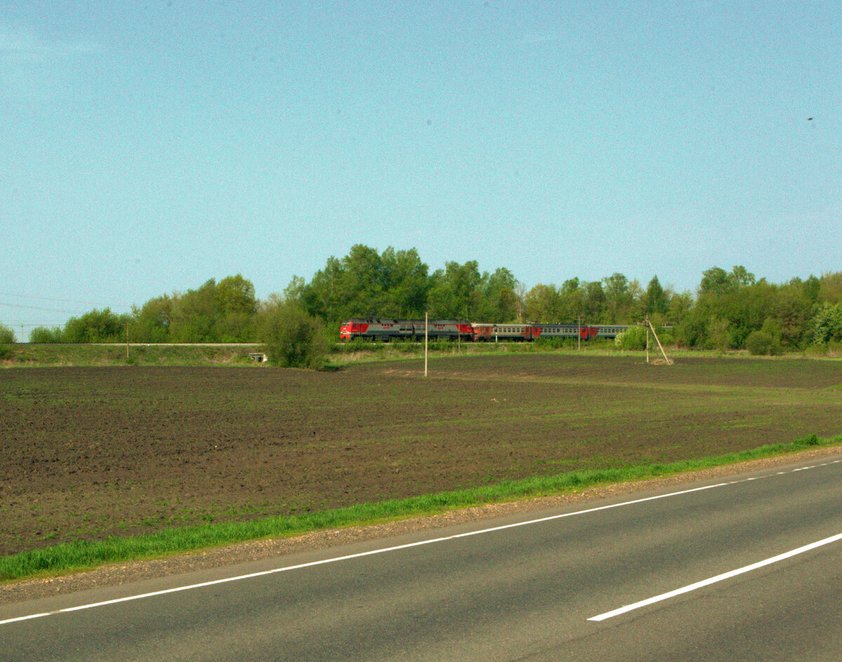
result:
[[[838,662],[840,614],[831,456],[0,606],[0,660]]]

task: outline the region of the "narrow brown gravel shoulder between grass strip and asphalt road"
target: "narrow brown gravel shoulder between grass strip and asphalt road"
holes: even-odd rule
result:
[[[344,529],[314,531],[298,537],[242,542],[236,545],[204,549],[195,553],[151,561],[112,563],[85,572],[2,584],[0,585],[0,604],[34,600],[49,595],[74,593],[97,586],[130,584],[141,579],[219,568],[263,558],[281,558],[292,553],[313,549],[328,549],[350,542],[382,539],[413,531],[432,530],[464,522],[489,520],[498,516],[529,512],[530,510],[543,510],[557,505],[586,503],[595,499],[632,494],[648,489],[668,488],[671,485],[691,481],[727,478],[741,473],[763,471],[793,462],[812,462],[825,456],[839,455],[840,452],[842,452],[842,446],[834,446],[802,451],[794,455],[741,462],[726,467],[686,472],[668,478],[653,478],[633,483],[618,483],[599,488],[589,488],[576,494],[481,505],[462,510],[451,510],[440,515],[413,517],[373,526],[352,526]]]

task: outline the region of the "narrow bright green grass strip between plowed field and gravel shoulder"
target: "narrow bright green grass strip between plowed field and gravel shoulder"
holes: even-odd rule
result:
[[[234,542],[269,537],[291,537],[319,529],[373,524],[415,515],[432,515],[472,505],[564,494],[597,485],[658,478],[680,472],[698,471],[785,455],[810,447],[839,444],[842,444],[842,435],[827,439],[809,435],[789,444],[760,446],[749,451],[700,460],[568,472],[555,476],[504,481],[494,485],[440,494],[424,494],[408,499],[360,504],[337,510],[322,510],[306,515],[165,529],[139,537],[109,537],[93,542],[63,543],[0,558],[0,580],[62,574],[92,569],[105,563],[163,558],[176,553],[186,553],[205,547],[219,547]]]

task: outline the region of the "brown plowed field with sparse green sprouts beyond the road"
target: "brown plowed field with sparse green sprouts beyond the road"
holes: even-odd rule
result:
[[[842,363],[0,371],[0,554],[842,432]]]

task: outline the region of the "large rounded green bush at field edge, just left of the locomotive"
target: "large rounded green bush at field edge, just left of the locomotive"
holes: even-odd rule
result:
[[[261,315],[260,341],[269,363],[287,368],[322,366],[330,343],[324,325],[295,302],[283,302]]]

